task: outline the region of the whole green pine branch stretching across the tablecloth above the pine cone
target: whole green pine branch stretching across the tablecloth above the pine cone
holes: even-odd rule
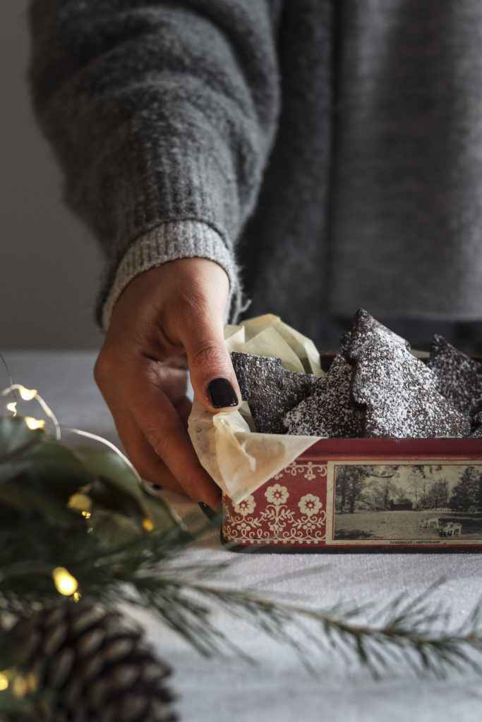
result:
[[[219,567],[183,565],[184,529],[171,532],[169,542],[154,532],[106,549],[85,526],[64,531],[30,518],[20,528],[18,534],[0,529],[0,609],[12,617],[59,599],[51,580],[55,564],[74,574],[83,599],[105,606],[121,600],[144,606],[203,655],[234,651],[247,658],[216,624],[215,609],[221,608],[277,643],[290,645],[311,670],[314,650],[332,650],[343,659],[358,660],[374,677],[400,663],[436,677],[450,669],[482,671],[482,605],[475,605],[463,625],[447,632],[449,613],[433,604],[435,586],[412,601],[401,596],[390,601],[377,612],[378,621],[367,622],[366,608],[338,604],[311,609],[267,593],[200,581],[215,579],[238,557]],[[34,547],[35,562],[30,556]]]

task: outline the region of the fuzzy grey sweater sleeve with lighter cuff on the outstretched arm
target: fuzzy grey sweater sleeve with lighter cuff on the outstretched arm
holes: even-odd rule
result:
[[[235,246],[279,113],[278,0],[33,0],[35,113],[106,256],[97,319],[142,271]]]

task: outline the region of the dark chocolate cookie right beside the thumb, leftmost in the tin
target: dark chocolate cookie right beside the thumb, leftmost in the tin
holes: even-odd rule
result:
[[[284,434],[283,417],[312,391],[317,376],[287,371],[278,358],[253,356],[233,351],[234,372],[247,401],[256,430]]]

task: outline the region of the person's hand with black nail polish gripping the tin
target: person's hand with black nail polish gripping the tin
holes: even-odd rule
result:
[[[223,338],[228,292],[225,271],[205,258],[139,274],[114,306],[94,370],[140,476],[212,508],[220,490],[186,431],[186,369],[205,409],[236,409],[241,396]]]

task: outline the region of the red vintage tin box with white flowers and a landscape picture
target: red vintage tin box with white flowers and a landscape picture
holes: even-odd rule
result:
[[[240,503],[232,549],[374,552],[482,548],[481,439],[322,439]]]

